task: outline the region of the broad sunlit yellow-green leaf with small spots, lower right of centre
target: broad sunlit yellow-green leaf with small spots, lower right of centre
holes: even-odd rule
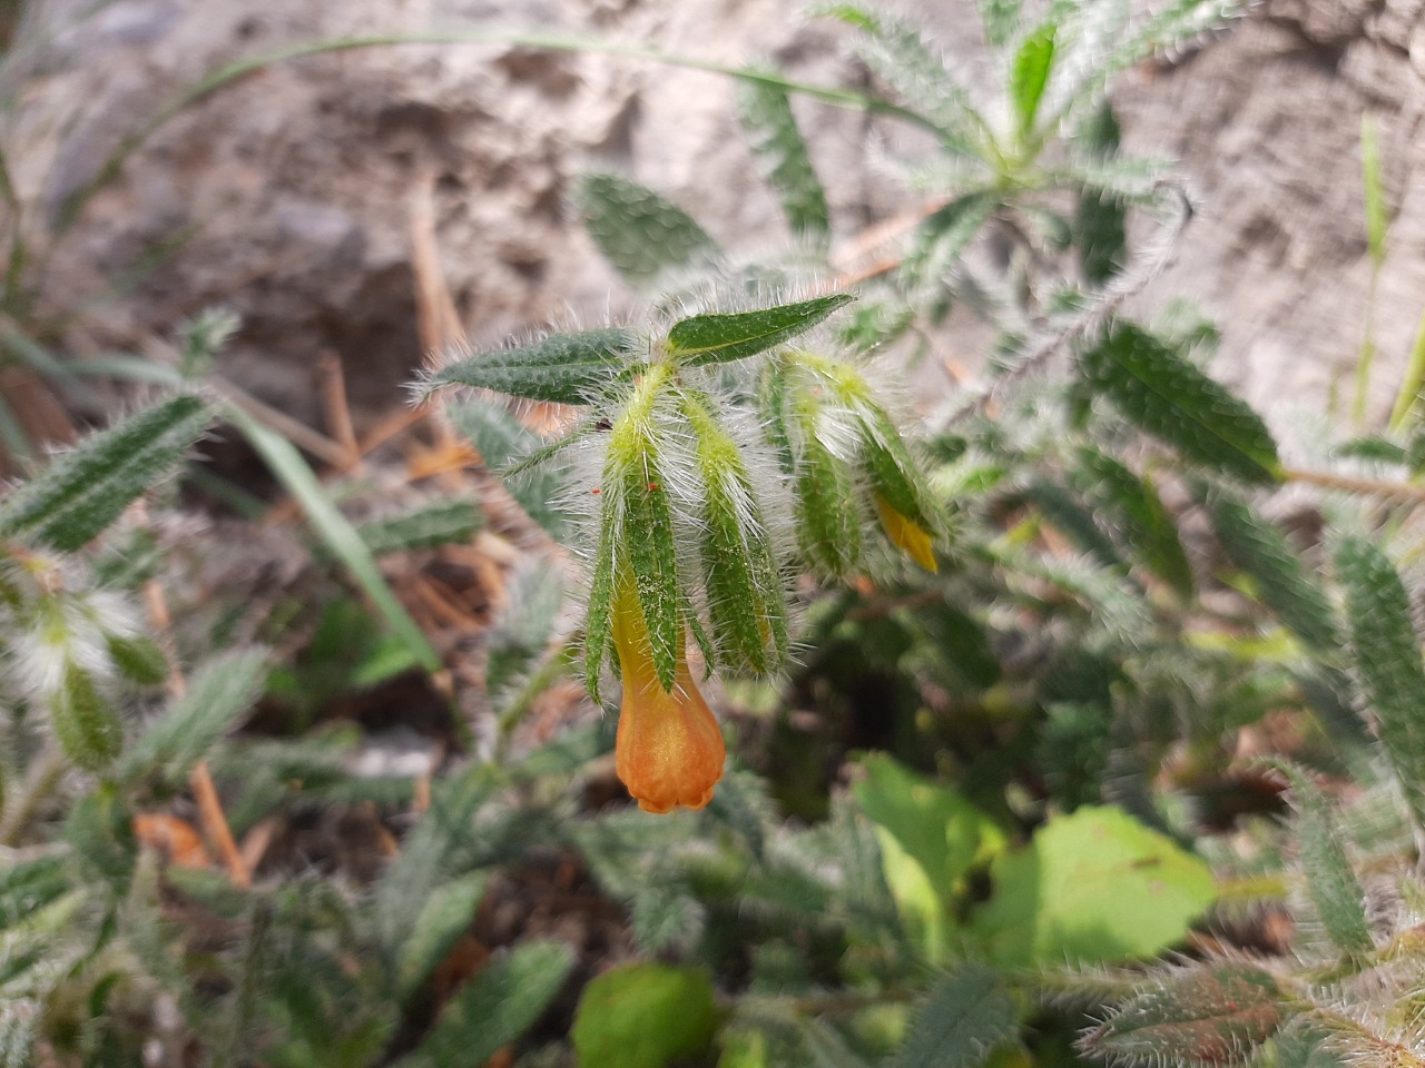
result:
[[[1213,873],[1127,813],[1084,806],[990,866],[995,890],[970,917],[1000,967],[1151,957],[1180,941],[1216,897]]]

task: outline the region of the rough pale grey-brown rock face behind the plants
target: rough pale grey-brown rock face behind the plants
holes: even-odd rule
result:
[[[902,4],[973,63],[970,0]],[[131,347],[208,305],[244,326],[234,382],[316,420],[335,355],[358,420],[400,403],[420,365],[412,211],[429,189],[440,262],[473,337],[494,340],[631,295],[566,204],[591,164],[691,209],[730,248],[781,242],[728,80],[648,61],[509,46],[400,44],[264,67],[182,108],[58,241],[64,204],[123,138],[205,73],[294,41],[514,28],[771,57],[856,84],[842,28],[791,0],[51,0],[3,87],[24,225],[48,252],[41,308],[81,308],[81,340]],[[1372,402],[1388,407],[1425,310],[1425,0],[1264,0],[1220,38],[1117,84],[1130,151],[1167,155],[1198,201],[1149,302],[1218,320],[1216,373],[1274,419],[1347,382],[1365,330],[1359,134],[1379,120],[1389,256]],[[798,101],[838,236],[903,205],[893,147],[864,117]],[[87,340],[84,340],[87,339]],[[1349,387],[1342,396],[1349,394]]]

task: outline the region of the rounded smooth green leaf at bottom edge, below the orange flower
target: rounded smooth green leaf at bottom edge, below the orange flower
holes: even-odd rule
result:
[[[715,1027],[701,968],[624,964],[584,987],[570,1038],[583,1068],[664,1068],[707,1048]]]

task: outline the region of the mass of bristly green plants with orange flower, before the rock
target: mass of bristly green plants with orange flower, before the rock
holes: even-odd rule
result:
[[[978,7],[988,84],[859,4],[822,14],[866,91],[724,70],[785,259],[589,174],[573,204],[651,310],[420,383],[480,392],[449,426],[587,568],[579,628],[546,561],[509,575],[455,664],[479,679],[465,752],[429,775],[359,770],[352,725],[234,728],[469,655],[379,560],[467,541],[475,503],[359,514],[369,487],[325,484],[214,373],[231,316],[185,328],[175,367],[108,365],[168,393],[0,500],[0,1068],[1422,1058],[1425,444],[1399,416],[1294,467],[1210,373],[1208,325],[1124,312],[1163,262],[1130,212],[1181,198],[1123,157],[1112,81],[1235,6]],[[871,265],[838,255],[814,101],[931,135]],[[10,279],[6,310],[23,296]],[[996,340],[922,424],[888,379],[952,313]],[[566,406],[567,431],[493,394]],[[232,638],[242,611],[167,635],[140,611],[167,577],[151,491],[219,420],[331,582],[284,591],[302,625],[248,632],[271,648]],[[355,587],[331,592],[333,564]],[[617,726],[529,743],[580,646]],[[190,792],[218,830],[174,815]],[[298,849],[254,877],[235,837],[325,812],[382,859],[333,874]]]

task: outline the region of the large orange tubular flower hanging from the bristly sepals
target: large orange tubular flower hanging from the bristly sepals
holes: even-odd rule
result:
[[[618,778],[644,812],[701,809],[722,778],[727,749],[685,656],[678,658],[673,692],[653,665],[648,628],[633,578],[617,582],[613,632],[623,674],[616,746]]]

